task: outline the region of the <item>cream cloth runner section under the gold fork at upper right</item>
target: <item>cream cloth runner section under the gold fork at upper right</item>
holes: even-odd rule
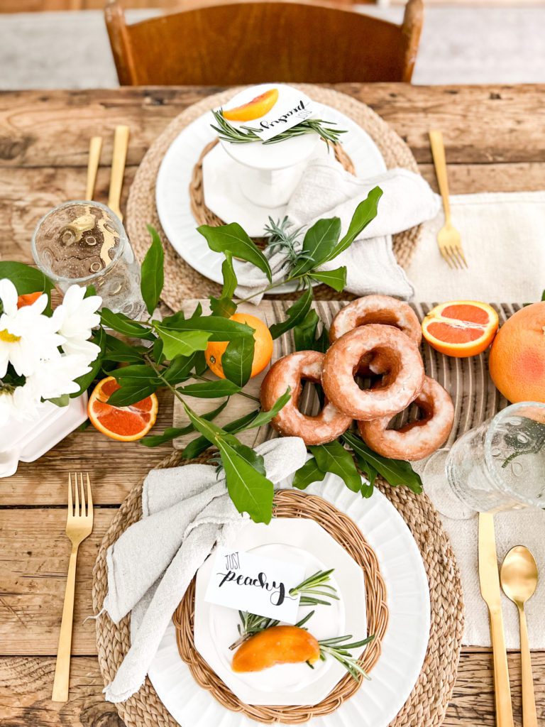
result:
[[[451,270],[440,256],[441,209],[424,225],[407,270],[416,300],[540,300],[545,288],[545,191],[453,195],[451,209],[469,267]]]

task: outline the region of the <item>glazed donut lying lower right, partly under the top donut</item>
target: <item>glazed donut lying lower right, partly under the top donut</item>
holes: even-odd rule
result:
[[[371,449],[392,459],[424,459],[445,443],[454,421],[452,399],[443,387],[428,376],[414,400],[424,417],[400,429],[388,429],[392,417],[358,422],[361,438]]]

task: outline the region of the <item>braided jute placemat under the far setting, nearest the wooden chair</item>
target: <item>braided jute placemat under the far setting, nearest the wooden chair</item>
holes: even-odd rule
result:
[[[318,103],[325,103],[341,111],[361,126],[379,147],[388,169],[403,166],[418,172],[416,159],[408,145],[391,129],[371,108],[360,101],[334,89],[311,84],[296,84]],[[161,228],[156,209],[156,179],[161,161],[169,146],[182,129],[212,108],[225,104],[233,95],[233,89],[208,96],[182,111],[153,142],[140,164],[132,182],[127,203],[126,229],[137,257],[142,260],[150,245],[146,225],[153,225],[163,239],[166,235]],[[195,227],[198,222],[195,221]],[[421,225],[394,236],[393,246],[397,262],[406,267],[413,256],[421,233]],[[165,284],[161,298],[170,308],[177,310],[182,302],[190,298],[204,298],[219,295],[221,286],[201,276],[182,260],[170,245],[165,249]],[[284,297],[293,297],[286,294]],[[315,289],[317,300],[347,300],[353,297],[346,292],[336,293],[328,286]]]

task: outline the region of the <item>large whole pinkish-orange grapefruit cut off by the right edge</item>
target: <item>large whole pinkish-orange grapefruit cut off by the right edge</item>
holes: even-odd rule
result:
[[[512,403],[545,402],[545,301],[517,310],[493,341],[490,374]]]

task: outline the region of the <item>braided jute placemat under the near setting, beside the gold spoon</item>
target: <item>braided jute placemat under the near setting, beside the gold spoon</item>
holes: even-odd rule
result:
[[[176,467],[179,461],[180,454],[174,451],[158,467]],[[392,488],[379,478],[376,486],[396,507],[413,534],[427,573],[431,605],[429,643],[419,679],[390,727],[438,727],[451,698],[464,630],[459,571],[439,515],[428,497],[415,495],[404,487]],[[106,550],[141,516],[142,483],[129,492],[102,539],[93,570],[95,613],[100,612],[108,590]],[[346,547],[346,542],[343,545]],[[97,651],[105,684],[113,680],[129,647],[129,616],[114,624],[107,614],[102,614],[97,619]],[[116,707],[127,727],[177,727],[148,678],[136,694]]]

